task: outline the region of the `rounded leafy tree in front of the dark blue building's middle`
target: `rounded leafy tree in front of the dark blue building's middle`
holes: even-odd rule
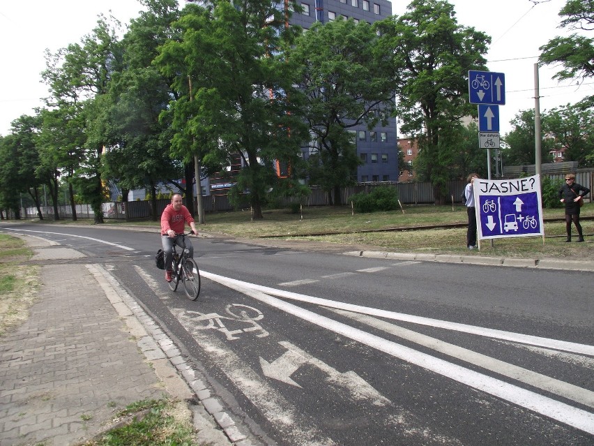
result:
[[[360,159],[356,138],[349,128],[379,121],[387,124],[394,109],[390,53],[367,22],[316,22],[287,50],[287,63],[296,75],[298,93],[312,134],[310,183],[333,191],[340,202],[340,187],[353,183]],[[298,99],[299,98],[299,99]]]

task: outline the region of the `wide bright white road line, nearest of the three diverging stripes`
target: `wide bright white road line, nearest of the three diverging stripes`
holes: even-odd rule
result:
[[[231,289],[243,292],[245,295],[251,296],[260,302],[264,302],[265,304],[285,311],[298,318],[307,320],[307,322],[311,322],[312,324],[337,334],[342,334],[342,336],[346,336],[354,341],[358,341],[365,345],[369,345],[376,350],[385,352],[388,355],[402,359],[404,362],[415,364],[423,369],[462,382],[464,385],[468,385],[487,394],[496,396],[497,398],[509,401],[517,406],[556,419],[558,422],[568,424],[581,431],[594,434],[594,414],[591,412],[574,408],[566,403],[555,401],[547,396],[542,396],[535,392],[531,392],[530,390],[522,389],[517,385],[512,385],[508,382],[466,369],[457,364],[446,362],[443,359],[432,357],[431,355],[418,352],[417,350],[405,347],[404,345],[387,341],[374,334],[350,327],[342,322],[326,318],[326,316],[302,309],[289,302],[284,302],[264,294],[264,292],[257,290],[253,284],[247,284],[248,286],[246,286],[245,282],[218,276],[217,274],[206,273],[202,275]]]

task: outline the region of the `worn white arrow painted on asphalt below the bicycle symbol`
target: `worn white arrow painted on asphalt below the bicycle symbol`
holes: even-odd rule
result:
[[[340,373],[336,369],[328,366],[323,361],[313,357],[309,353],[301,350],[296,345],[291,344],[287,341],[279,342],[287,351],[282,356],[275,359],[273,362],[268,362],[266,359],[260,357],[260,365],[262,366],[262,372],[268,378],[273,378],[287,384],[301,387],[297,382],[291,379],[291,375],[297,371],[297,369],[305,364],[310,364],[317,367],[328,375],[326,381],[345,387],[353,398],[358,400],[372,400],[375,406],[386,406],[390,404],[390,400],[380,394],[374,389],[367,381],[357,375],[353,371],[347,371]]]

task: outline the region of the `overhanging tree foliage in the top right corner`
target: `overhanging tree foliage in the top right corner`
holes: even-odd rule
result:
[[[594,0],[568,0],[559,11],[559,28],[594,31]],[[594,77],[594,38],[574,33],[568,37],[555,37],[540,47],[540,62],[559,64],[564,68],[554,77],[558,80]]]

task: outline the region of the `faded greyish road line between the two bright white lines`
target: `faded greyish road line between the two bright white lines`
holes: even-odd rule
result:
[[[393,334],[399,338],[418,343],[419,345],[431,348],[437,352],[462,359],[462,361],[469,362],[470,364],[475,364],[482,367],[483,369],[494,371],[500,375],[508,376],[508,378],[513,378],[519,382],[525,382],[526,384],[533,387],[546,390],[547,392],[563,396],[564,398],[568,398],[576,401],[577,403],[594,408],[594,392],[584,389],[583,387],[578,387],[577,385],[572,385],[568,382],[550,378],[549,376],[542,375],[541,373],[536,373],[534,371],[524,369],[523,367],[515,366],[514,364],[509,364],[508,362],[503,362],[499,359],[482,355],[481,353],[473,352],[467,348],[462,348],[458,345],[440,341],[439,339],[426,336],[425,334],[413,332],[413,330],[398,327],[397,325],[391,324],[390,322],[386,322],[381,319],[372,318],[371,316],[358,313],[352,313],[351,311],[333,311],[340,315],[347,316],[347,318],[351,318],[353,320],[370,325],[371,327],[381,329],[384,332]]]

